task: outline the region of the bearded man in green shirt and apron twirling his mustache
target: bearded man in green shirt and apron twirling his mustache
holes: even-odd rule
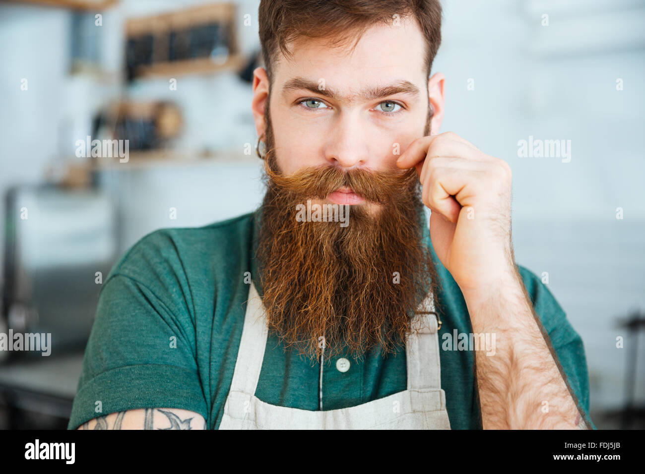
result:
[[[126,253],[69,428],[593,428],[581,338],[515,264],[510,167],[438,133],[439,2],[259,23],[264,200]]]

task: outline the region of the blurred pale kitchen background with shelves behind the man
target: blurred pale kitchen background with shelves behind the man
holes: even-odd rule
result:
[[[441,132],[511,165],[516,260],[584,340],[591,419],[645,428],[645,1],[442,3]],[[258,5],[0,1],[0,333],[52,334],[0,351],[0,428],[66,428],[128,247],[259,205]]]

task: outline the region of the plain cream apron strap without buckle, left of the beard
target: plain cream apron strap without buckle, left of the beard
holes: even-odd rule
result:
[[[255,388],[257,388],[257,381],[260,379],[260,371],[264,360],[267,337],[268,328],[264,318],[264,307],[257,290],[255,290],[255,284],[251,281],[248,290],[248,301],[246,302],[242,339],[237,351],[230,391],[243,391],[244,393],[255,395]]]

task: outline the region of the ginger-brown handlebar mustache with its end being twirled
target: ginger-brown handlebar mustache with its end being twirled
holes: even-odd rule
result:
[[[274,170],[270,157],[264,159],[264,171],[277,193],[291,193],[294,197],[324,199],[338,188],[347,186],[366,201],[384,204],[397,195],[419,184],[415,168],[401,172],[379,172],[364,168],[342,170],[337,166],[307,166],[290,175]]]

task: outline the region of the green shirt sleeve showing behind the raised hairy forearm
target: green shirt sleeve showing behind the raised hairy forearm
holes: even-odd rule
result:
[[[541,279],[530,270],[518,265],[535,313],[549,335],[551,347],[557,355],[561,371],[575,395],[578,408],[586,417],[588,426],[597,429],[589,416],[589,375],[582,338],[566,319],[566,313]]]

